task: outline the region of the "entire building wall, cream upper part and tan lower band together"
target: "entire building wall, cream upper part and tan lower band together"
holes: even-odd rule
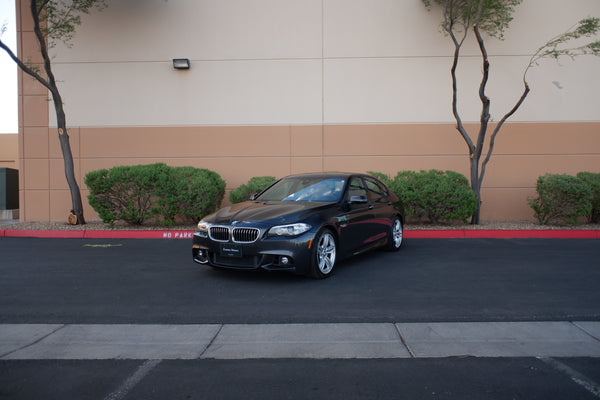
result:
[[[19,51],[34,54],[28,10],[17,10]],[[600,15],[596,0],[530,0],[505,41],[488,41],[494,120],[520,96],[531,53],[588,15]],[[112,1],[84,17],[72,47],[53,49],[82,194],[88,171],[159,161],[210,168],[228,189],[252,176],[307,171],[468,176],[440,18],[420,0]],[[476,132],[481,60],[474,44],[465,51],[460,107]],[[173,69],[179,57],[190,70]],[[582,58],[530,72],[533,90],[488,167],[483,219],[531,219],[527,197],[541,174],[600,172],[599,67]],[[64,220],[70,209],[46,100],[21,76],[25,220]]]

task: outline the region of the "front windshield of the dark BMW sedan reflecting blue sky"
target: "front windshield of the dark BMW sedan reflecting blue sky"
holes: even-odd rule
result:
[[[295,176],[283,178],[256,200],[337,202],[342,197],[345,179],[341,177]]]

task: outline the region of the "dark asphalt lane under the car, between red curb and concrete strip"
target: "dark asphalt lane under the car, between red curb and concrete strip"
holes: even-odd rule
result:
[[[222,271],[188,240],[0,239],[0,323],[600,320],[600,242],[411,239],[315,281]]]

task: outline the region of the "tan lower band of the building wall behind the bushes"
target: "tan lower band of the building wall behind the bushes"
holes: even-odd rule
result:
[[[82,194],[91,170],[164,162],[209,168],[227,189],[253,176],[314,171],[437,168],[468,176],[466,147],[450,124],[253,127],[74,128],[70,130]],[[34,136],[34,135],[38,136]],[[25,220],[63,220],[70,204],[54,129],[31,131],[24,147]],[[545,173],[600,172],[600,123],[508,124],[483,189],[483,219],[532,219],[527,197]],[[68,211],[68,210],[67,210]],[[97,219],[87,206],[90,220]]]

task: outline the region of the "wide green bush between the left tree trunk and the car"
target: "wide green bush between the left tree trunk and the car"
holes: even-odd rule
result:
[[[172,225],[177,218],[197,222],[218,207],[225,182],[206,169],[150,165],[118,166],[85,176],[88,200],[102,221],[141,225],[149,219]]]

